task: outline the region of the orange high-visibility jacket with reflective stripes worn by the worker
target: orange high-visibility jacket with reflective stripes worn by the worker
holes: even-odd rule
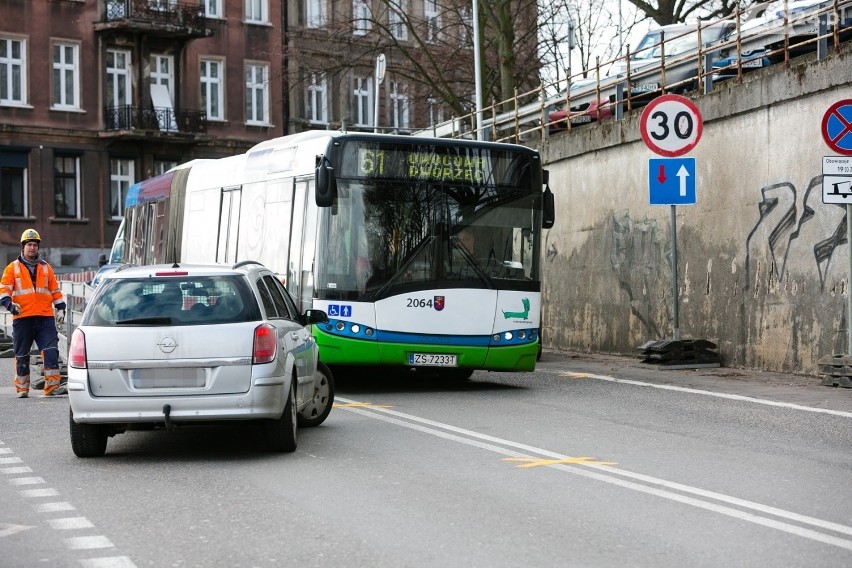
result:
[[[30,316],[53,317],[53,306],[65,300],[59,283],[53,274],[53,268],[40,260],[36,267],[36,281],[33,286],[30,271],[19,260],[15,260],[3,271],[0,279],[0,299],[11,297],[12,302],[21,306],[21,313],[14,319]]]

